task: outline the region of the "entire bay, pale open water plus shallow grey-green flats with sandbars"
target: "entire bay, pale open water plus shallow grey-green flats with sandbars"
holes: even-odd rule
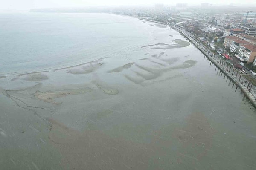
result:
[[[255,109],[177,31],[112,14],[0,18],[3,169],[256,168]]]

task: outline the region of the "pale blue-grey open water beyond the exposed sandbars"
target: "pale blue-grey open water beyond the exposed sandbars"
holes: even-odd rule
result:
[[[72,66],[149,40],[140,23],[111,14],[0,14],[0,25],[0,75]]]

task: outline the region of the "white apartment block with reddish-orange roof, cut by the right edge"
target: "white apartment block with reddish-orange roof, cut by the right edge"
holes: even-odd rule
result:
[[[256,58],[256,45],[241,45],[239,48],[238,54],[244,58],[245,61],[256,65],[255,58]]]

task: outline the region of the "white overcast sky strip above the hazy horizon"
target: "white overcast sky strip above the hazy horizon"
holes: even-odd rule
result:
[[[256,0],[0,0],[0,11],[84,6],[154,5],[156,3],[166,5],[175,5],[176,3],[256,4]]]

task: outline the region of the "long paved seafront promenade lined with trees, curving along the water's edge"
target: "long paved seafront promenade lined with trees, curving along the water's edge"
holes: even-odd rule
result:
[[[218,68],[217,74],[224,74],[224,78],[227,76],[226,81],[228,81],[229,78],[229,84],[231,81],[233,81],[233,86],[236,84],[236,90],[237,88],[241,89],[241,91],[244,92],[244,95],[251,101],[254,107],[256,107],[256,87],[243,77],[244,72],[231,66],[230,63],[222,58],[222,56],[215,55],[215,53],[212,52],[212,49],[201,43],[200,40],[198,40],[198,38],[192,35],[190,32],[180,28],[179,26],[170,25],[170,27],[177,30],[180,32],[180,34],[189,39],[189,41],[193,43],[209,59],[211,66],[215,64],[215,70]]]

